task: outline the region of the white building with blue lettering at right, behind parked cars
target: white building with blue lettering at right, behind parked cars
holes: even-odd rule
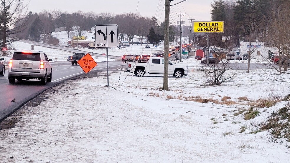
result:
[[[274,54],[279,54],[278,50],[265,45],[265,42],[251,42],[252,59],[268,59],[268,52],[271,50]],[[240,42],[240,56],[250,53],[250,42]]]

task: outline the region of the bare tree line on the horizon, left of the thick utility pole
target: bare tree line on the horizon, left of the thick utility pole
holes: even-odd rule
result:
[[[140,42],[149,40],[158,44],[164,38],[164,23],[159,23],[154,16],[151,18],[136,13],[112,14],[94,12],[67,13],[58,9],[43,10],[39,13],[26,11],[28,4],[23,0],[0,0],[0,44],[2,47],[11,46],[11,42],[18,39],[42,41],[44,43],[58,44],[59,40],[52,36],[56,28],[63,27],[68,38],[82,36],[84,31],[90,31],[96,24],[118,24],[120,41],[133,42],[134,35]],[[75,33],[72,33],[76,27]],[[174,26],[171,26],[170,38],[173,41],[176,35]],[[150,33],[149,33],[150,31]],[[12,46],[11,46],[12,47]]]

